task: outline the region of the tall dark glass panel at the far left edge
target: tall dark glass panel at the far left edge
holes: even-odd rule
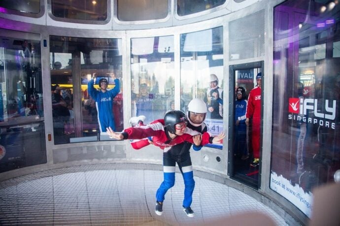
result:
[[[38,34],[0,29],[0,172],[46,163]],[[25,38],[23,38],[25,37]]]

